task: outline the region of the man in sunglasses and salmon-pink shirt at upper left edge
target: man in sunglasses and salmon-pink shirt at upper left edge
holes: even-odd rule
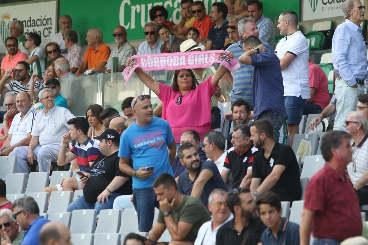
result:
[[[26,61],[28,59],[28,55],[21,52],[18,49],[18,40],[15,37],[7,37],[5,39],[5,46],[8,54],[1,61],[1,76],[2,78],[10,68],[15,68],[19,61]]]

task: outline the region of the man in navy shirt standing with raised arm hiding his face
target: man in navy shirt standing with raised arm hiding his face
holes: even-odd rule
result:
[[[239,57],[239,62],[254,66],[254,120],[268,120],[272,124],[273,137],[276,139],[287,119],[280,60],[276,54],[265,52],[266,47],[256,36],[249,36],[243,39],[242,43],[245,53]]]

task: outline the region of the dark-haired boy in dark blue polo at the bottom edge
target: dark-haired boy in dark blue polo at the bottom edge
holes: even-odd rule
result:
[[[268,227],[262,234],[262,244],[299,245],[299,225],[281,217],[280,197],[272,191],[259,195],[256,202],[259,217]]]

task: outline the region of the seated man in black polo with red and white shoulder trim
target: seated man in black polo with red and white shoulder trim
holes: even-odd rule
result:
[[[231,143],[234,146],[227,152],[221,171],[221,176],[225,183],[231,173],[233,176],[233,188],[249,187],[251,184],[252,163],[258,149],[253,146],[250,137],[250,127],[248,125],[240,124],[234,127],[231,139]]]

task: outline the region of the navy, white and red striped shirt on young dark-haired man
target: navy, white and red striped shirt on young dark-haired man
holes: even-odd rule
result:
[[[101,155],[98,145],[88,137],[82,144],[77,143],[70,149],[71,154],[75,155],[79,169],[87,171],[92,164]]]

